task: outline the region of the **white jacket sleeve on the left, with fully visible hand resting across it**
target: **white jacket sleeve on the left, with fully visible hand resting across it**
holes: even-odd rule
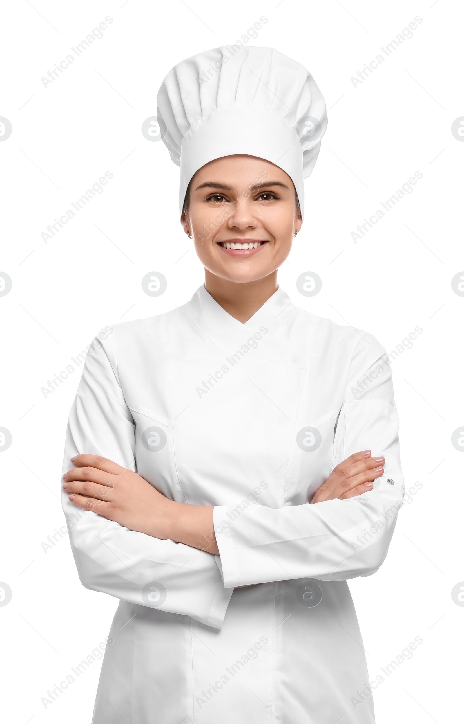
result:
[[[117,360],[113,365],[117,369]],[[70,458],[82,453],[136,469],[134,420],[113,365],[95,337],[69,416],[63,472],[72,467]],[[62,505],[86,588],[221,628],[232,589],[224,588],[213,555],[82,511],[63,491]]]

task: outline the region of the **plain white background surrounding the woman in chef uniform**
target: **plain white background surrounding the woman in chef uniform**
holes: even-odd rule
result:
[[[400,510],[382,568],[350,581],[372,679],[423,639],[375,691],[377,724],[448,724],[462,709],[464,608],[451,597],[464,579],[464,455],[451,444],[464,423],[464,297],[451,287],[464,269],[464,143],[451,133],[464,116],[462,4],[17,0],[3,6],[0,39],[0,116],[12,123],[0,143],[0,270],[13,282],[0,297],[0,426],[13,439],[0,455],[0,581],[13,594],[0,607],[9,723],[90,722],[100,661],[52,704],[40,699],[104,640],[117,603],[80,584],[67,536],[43,550],[64,524],[64,434],[81,368],[47,397],[41,387],[100,327],[163,313],[202,283],[179,224],[179,169],[140,129],[173,64],[235,42],[263,14],[249,44],[304,64],[329,118],[280,285],[298,306],[368,330],[388,352],[424,330],[393,363],[406,489],[423,487]],[[103,38],[44,87],[40,78],[107,15]],[[351,77],[416,16],[413,37],[355,88]],[[107,170],[103,193],[45,243],[41,232]],[[356,226],[416,171],[424,176],[413,192],[355,243]],[[148,271],[168,279],[158,298],[142,291]],[[296,289],[304,271],[322,278],[313,298]]]

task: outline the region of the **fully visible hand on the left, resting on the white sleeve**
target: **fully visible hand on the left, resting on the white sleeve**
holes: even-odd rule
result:
[[[104,515],[132,531],[164,536],[163,519],[175,505],[144,478],[99,455],[77,455],[76,466],[63,476],[73,505]]]

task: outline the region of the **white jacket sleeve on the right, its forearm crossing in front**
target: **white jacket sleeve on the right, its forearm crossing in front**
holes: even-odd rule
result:
[[[235,520],[233,506],[215,507],[217,563],[225,586],[304,577],[340,581],[369,576],[382,564],[404,488],[391,368],[381,350],[366,335],[353,352],[333,440],[333,466],[370,449],[372,455],[384,455],[384,475],[370,492],[348,500],[283,508],[254,505]],[[233,522],[222,529],[224,519]]]

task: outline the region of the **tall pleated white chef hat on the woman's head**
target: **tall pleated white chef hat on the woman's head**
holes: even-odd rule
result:
[[[283,169],[304,214],[303,179],[316,163],[327,112],[303,65],[273,48],[214,48],[175,65],[157,101],[161,137],[180,167],[180,214],[194,173],[238,153]]]

